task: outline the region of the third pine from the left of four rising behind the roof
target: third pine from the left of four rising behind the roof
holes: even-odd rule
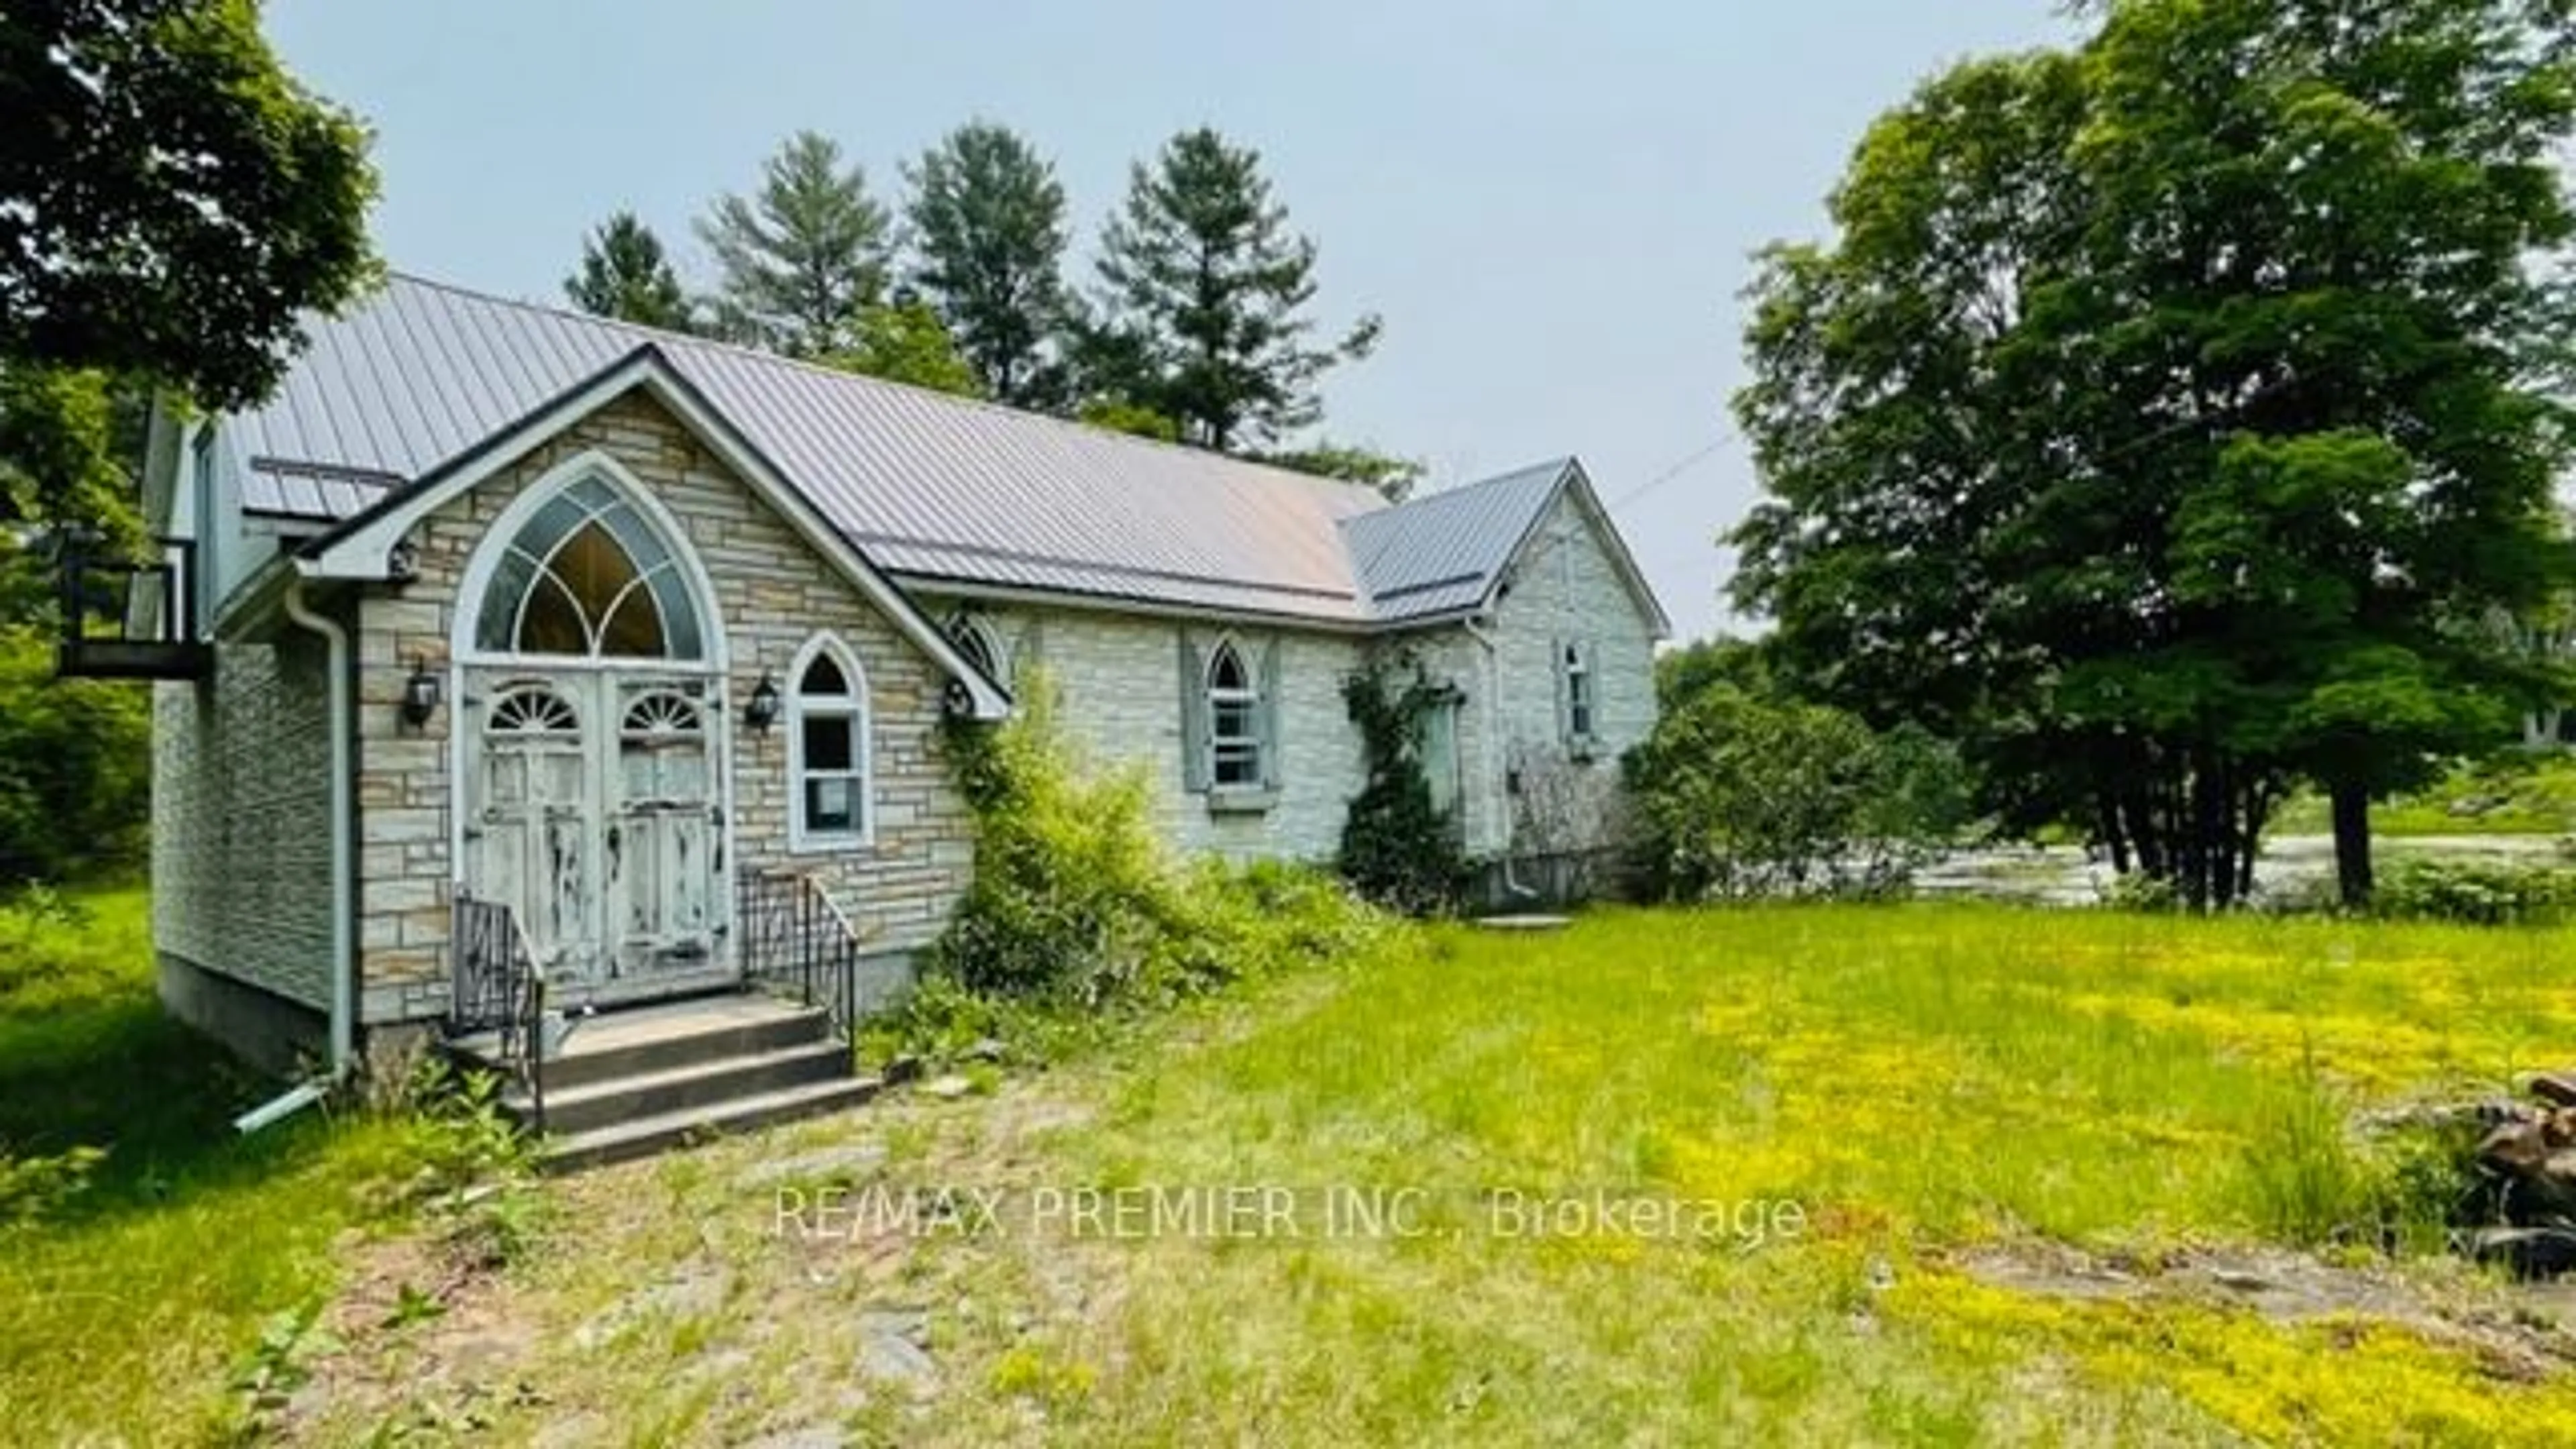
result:
[[[1051,407],[1069,320],[1064,186],[1018,131],[969,121],[907,168],[912,286],[940,315],[981,392]]]

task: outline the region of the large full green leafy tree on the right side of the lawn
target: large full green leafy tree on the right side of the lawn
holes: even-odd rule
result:
[[[2112,0],[1883,119],[1775,250],[1739,598],[1837,696],[1978,743],[2195,902],[2272,799],[2367,802],[2537,678],[2566,5]]]

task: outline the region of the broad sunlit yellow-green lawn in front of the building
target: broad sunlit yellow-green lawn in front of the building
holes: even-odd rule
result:
[[[2568,1444],[2537,1299],[2336,1235],[2403,1204],[2349,1114],[2576,1062],[2571,964],[2571,933],[2002,908],[1435,931],[992,1096],[559,1183],[526,1269],[433,1323],[343,1315],[291,1434]],[[781,1217],[835,1186],[994,1191],[1002,1227]],[[1298,1232],[1036,1209],[1188,1186],[1296,1194]],[[1419,1232],[1324,1238],[1332,1189],[1419,1194]],[[1767,1214],[1497,1214],[1595,1194]],[[2141,1292],[1981,1269],[2071,1253]],[[2352,1297],[2164,1292],[2210,1253]],[[927,1359],[889,1366],[886,1323]]]

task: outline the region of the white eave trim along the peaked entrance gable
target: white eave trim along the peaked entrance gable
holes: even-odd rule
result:
[[[644,387],[680,423],[698,436],[752,492],[781,518],[860,596],[868,598],[896,629],[925,655],[940,663],[951,678],[966,686],[976,719],[1010,717],[1010,691],[984,676],[956,639],[938,629],[850,539],[824,518],[814,503],[788,482],[788,477],[724,418],[716,405],[698,392],[654,343],[644,343],[605,369],[559,392],[551,402],[495,431],[464,454],[438,464],[412,487],[394,492],[376,505],[350,516],[337,529],[307,541],[296,557],[296,572],[322,580],[389,580],[394,575],[394,549],[425,516],[464,495],[474,485],[518,464],[546,438],[572,423],[598,413],[608,402]]]

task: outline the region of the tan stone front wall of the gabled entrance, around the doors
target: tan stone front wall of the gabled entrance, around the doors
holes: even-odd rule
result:
[[[729,647],[719,709],[734,773],[734,866],[814,871],[881,957],[878,980],[927,946],[974,869],[974,830],[938,758],[945,676],[667,410],[634,392],[477,485],[415,531],[417,578],[371,588],[358,616],[358,949],[363,1018],[415,1021],[446,1008],[451,861],[448,701],[425,730],[399,719],[412,660],[443,668],[451,611],[474,547],[513,498],[556,464],[605,451],[688,534],[714,580]],[[788,743],[739,714],[762,673],[786,691],[788,660],[829,629],[868,676],[876,841],[788,851]]]

